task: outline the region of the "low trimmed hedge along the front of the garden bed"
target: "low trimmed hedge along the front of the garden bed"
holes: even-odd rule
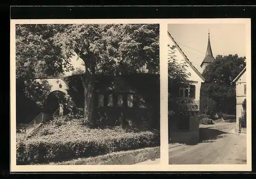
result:
[[[33,164],[93,157],[113,151],[136,149],[159,145],[154,133],[127,134],[111,139],[49,141],[45,139],[27,140],[17,150],[17,163]]]

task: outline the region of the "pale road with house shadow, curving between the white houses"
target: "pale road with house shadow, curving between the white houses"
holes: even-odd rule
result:
[[[169,164],[246,164],[246,135],[231,133],[235,126],[200,125],[198,144],[169,144]]]

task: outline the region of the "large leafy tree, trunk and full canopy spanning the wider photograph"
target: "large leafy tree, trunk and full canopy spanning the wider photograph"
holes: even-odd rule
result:
[[[144,65],[159,70],[158,24],[20,24],[16,29],[17,76],[61,74],[72,69],[74,55],[83,60],[84,122],[89,124],[95,73],[126,74]]]

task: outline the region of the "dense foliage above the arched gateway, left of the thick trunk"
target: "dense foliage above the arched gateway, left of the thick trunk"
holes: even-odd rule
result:
[[[16,78],[52,76],[65,71],[63,67],[70,64],[56,43],[58,29],[54,24],[16,24]]]

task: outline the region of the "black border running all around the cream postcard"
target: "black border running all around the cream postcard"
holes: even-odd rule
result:
[[[101,1],[102,2],[102,1]],[[11,4],[17,3],[17,1],[13,1]],[[120,3],[120,1],[119,1]],[[194,2],[191,2],[194,3]],[[250,1],[245,2],[243,1],[244,4],[249,4]],[[19,3],[21,4],[21,3]],[[92,4],[96,5],[95,2],[93,2]],[[92,5],[91,4],[91,5]],[[5,7],[6,7],[7,3],[5,3]],[[64,4],[65,5],[65,4]],[[10,28],[10,18],[11,19],[86,19],[86,18],[101,18],[101,19],[106,19],[106,18],[251,18],[251,39],[252,39],[252,45],[251,45],[251,49],[252,49],[252,66],[253,66],[253,59],[255,58],[255,54],[253,51],[253,47],[254,47],[254,43],[255,43],[255,37],[254,37],[254,30],[255,30],[255,21],[256,21],[256,11],[255,11],[255,6],[238,6],[236,3],[233,4],[233,6],[136,6],[136,7],[132,7],[132,6],[122,6],[122,7],[109,7],[109,6],[105,6],[105,7],[95,7],[95,6],[90,6],[90,7],[60,7],[60,6],[55,6],[55,7],[8,7],[8,10],[3,10],[1,12],[1,14],[5,13],[5,12],[9,12],[8,14],[8,27]],[[4,9],[3,6],[1,7],[1,10]],[[6,8],[7,9],[7,8]],[[71,9],[71,10],[70,10]],[[7,17],[7,15],[4,15],[2,17]],[[10,29],[9,29],[10,30]],[[7,32],[8,35],[4,36],[4,38],[8,38],[7,42],[9,42],[8,44],[10,45],[10,31]],[[7,47],[4,46],[4,47]],[[8,51],[10,50],[10,46],[7,47]],[[5,52],[5,51],[4,51]],[[10,51],[9,51],[10,52]],[[9,54],[8,57],[9,58]],[[9,63],[8,63],[9,65]],[[6,67],[6,66],[5,66]],[[253,68],[252,68],[253,69]],[[2,75],[3,77],[5,75]],[[253,79],[253,70],[252,70],[252,79]],[[4,79],[4,81],[6,80],[6,78]],[[8,81],[7,81],[8,82]],[[9,81],[10,82],[10,81]],[[253,82],[253,80],[252,80]],[[6,90],[7,93],[10,94],[10,90],[7,89],[9,87],[9,85],[3,85]],[[255,99],[254,95],[253,95],[253,83],[252,83],[252,101],[254,101],[253,99]],[[9,101],[9,98],[7,97],[7,93],[5,93],[5,99],[7,99],[7,101]],[[7,110],[9,111],[9,107],[7,107]],[[252,111],[253,111],[253,103],[252,103]],[[10,113],[9,113],[10,114]],[[9,116],[9,115],[8,115]],[[252,116],[253,119],[253,116]],[[8,121],[5,120],[3,122],[7,122],[7,125],[5,123],[2,124],[2,126],[8,126]],[[253,122],[252,120],[252,141],[254,139],[254,125],[255,122]],[[7,129],[7,127],[4,127],[5,129]],[[9,127],[10,129],[10,127]],[[1,131],[2,132],[2,131]],[[4,132],[4,130],[3,130]],[[9,135],[9,131],[2,136],[8,136]],[[8,138],[9,139],[9,138]],[[4,168],[4,170],[1,172],[2,175],[8,176],[9,175],[9,152],[10,148],[8,147],[1,147],[2,149],[4,149],[6,152],[6,155],[4,155],[4,153],[2,154],[2,162],[4,161],[8,161],[6,166],[3,166],[1,168]],[[255,171],[255,166],[254,166],[254,154],[253,154],[253,149],[254,149],[254,145],[252,142],[252,171]],[[32,176],[34,172],[28,172],[30,173]],[[45,172],[36,172],[36,173],[45,173]],[[53,177],[55,176],[54,174],[58,174],[59,176],[63,177],[66,175],[69,175],[69,173],[81,173],[81,172],[61,172],[61,173],[65,173],[65,175],[61,175],[60,172],[51,172]],[[86,172],[82,172],[82,173],[86,173]],[[123,173],[129,177],[131,177],[133,174],[148,174],[148,173],[154,173],[154,174],[162,174],[163,176],[167,175],[167,174],[178,174],[177,176],[181,176],[180,174],[184,174],[186,173],[185,176],[191,176],[193,174],[206,174],[206,173],[216,173],[216,174],[232,174],[232,173],[252,173],[252,172],[101,172],[100,174],[116,174],[117,176],[120,176],[120,173]],[[164,174],[165,173],[165,174]],[[23,174],[27,174],[25,172],[23,172]],[[99,172],[87,172],[87,174],[89,174],[89,176],[99,176]],[[132,175],[131,175],[132,174]],[[14,176],[15,173],[12,174],[12,176]],[[26,175],[24,175],[25,177],[27,177]],[[122,175],[123,176],[123,175]],[[147,177],[149,176],[154,176],[154,175],[147,175]],[[201,176],[201,175],[200,175]],[[251,175],[247,175],[247,177],[249,177]]]

